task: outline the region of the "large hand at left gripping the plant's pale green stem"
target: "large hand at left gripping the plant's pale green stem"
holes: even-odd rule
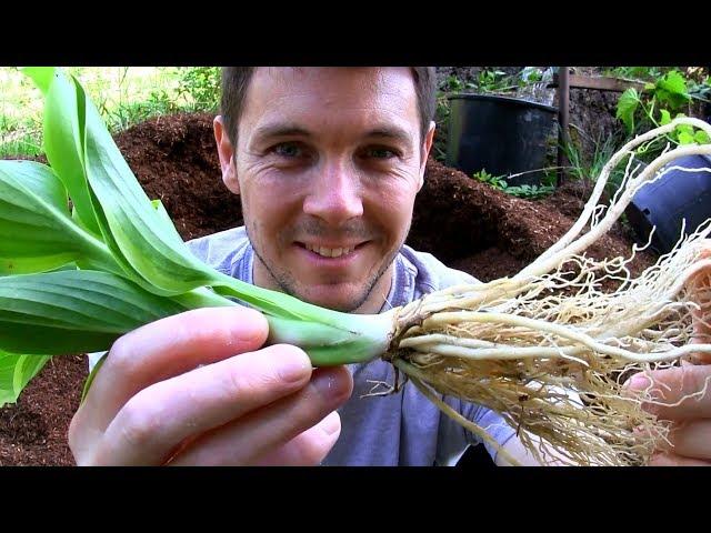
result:
[[[77,464],[318,464],[340,434],[344,366],[261,348],[246,308],[189,311],[119,339],[69,428]],[[330,414],[329,414],[330,413]]]

